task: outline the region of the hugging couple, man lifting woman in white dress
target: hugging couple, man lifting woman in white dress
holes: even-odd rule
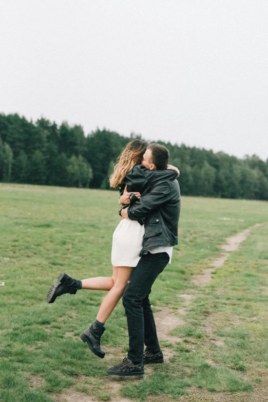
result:
[[[108,290],[96,320],[80,335],[100,358],[105,356],[101,349],[104,324],[123,295],[129,350],[127,358],[108,369],[108,374],[143,375],[144,364],[164,361],[149,294],[178,244],[179,171],[168,165],[168,158],[163,145],[139,139],[126,145],[110,177],[111,187],[119,186],[121,195],[121,222],[112,237],[112,277],[76,280],[61,273],[48,290],[48,303],[80,289]]]

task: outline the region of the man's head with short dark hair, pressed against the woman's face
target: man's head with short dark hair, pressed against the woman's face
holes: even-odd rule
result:
[[[149,144],[143,154],[142,165],[150,170],[166,169],[169,159],[169,151],[160,144]]]

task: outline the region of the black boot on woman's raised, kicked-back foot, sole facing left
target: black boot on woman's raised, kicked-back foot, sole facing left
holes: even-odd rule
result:
[[[50,286],[47,293],[47,303],[53,303],[59,296],[69,293],[75,295],[76,291],[81,289],[82,282],[71,278],[67,273],[62,272],[56,282]]]

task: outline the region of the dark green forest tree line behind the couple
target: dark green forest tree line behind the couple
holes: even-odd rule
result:
[[[109,189],[118,155],[137,137],[105,129],[85,136],[81,125],[0,114],[0,181]],[[158,142],[180,169],[183,195],[268,200],[268,159]]]

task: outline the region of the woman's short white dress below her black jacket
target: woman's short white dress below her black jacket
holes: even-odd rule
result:
[[[111,263],[114,267],[136,267],[144,235],[144,225],[122,219],[112,235]]]

